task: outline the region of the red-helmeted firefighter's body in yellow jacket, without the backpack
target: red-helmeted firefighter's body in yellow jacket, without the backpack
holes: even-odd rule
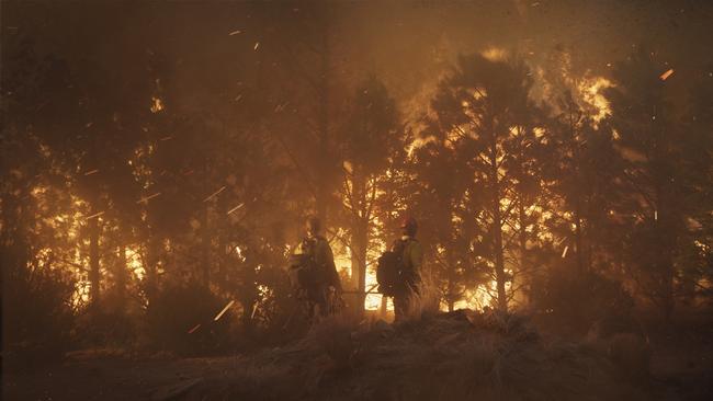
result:
[[[401,237],[394,242],[392,252],[400,255],[400,282],[394,291],[394,320],[400,321],[411,307],[414,296],[419,295],[423,250],[416,239],[418,224],[406,217],[400,225]]]

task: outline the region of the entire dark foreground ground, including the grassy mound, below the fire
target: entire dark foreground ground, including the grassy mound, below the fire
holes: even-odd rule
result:
[[[469,312],[397,326],[331,321],[249,356],[75,354],[4,373],[2,391],[3,400],[713,400],[710,337],[643,344],[558,342],[521,319]]]

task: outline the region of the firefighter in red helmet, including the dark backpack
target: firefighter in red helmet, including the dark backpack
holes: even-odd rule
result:
[[[416,240],[418,225],[408,217],[400,226],[401,238],[394,241],[391,251],[378,259],[376,280],[380,291],[394,297],[394,320],[404,319],[411,307],[412,297],[419,295],[423,251]]]

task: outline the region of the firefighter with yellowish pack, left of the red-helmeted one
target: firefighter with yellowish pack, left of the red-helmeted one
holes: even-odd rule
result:
[[[295,248],[290,263],[290,280],[297,299],[307,307],[309,320],[338,311],[341,283],[329,242],[320,234],[319,218],[309,217],[307,237]]]

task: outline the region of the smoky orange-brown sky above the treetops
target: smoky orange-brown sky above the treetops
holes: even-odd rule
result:
[[[185,104],[199,106],[223,100],[216,92],[237,93],[231,71],[282,46],[275,32],[306,7],[330,15],[336,81],[348,87],[375,75],[405,108],[428,101],[459,54],[486,48],[544,68],[553,53],[566,51],[573,72],[604,77],[641,45],[678,77],[712,60],[713,2],[692,0],[2,2],[2,36],[29,36],[37,53],[56,54],[79,73],[101,65],[114,71],[112,79],[140,68],[133,60],[146,51],[160,50]]]

